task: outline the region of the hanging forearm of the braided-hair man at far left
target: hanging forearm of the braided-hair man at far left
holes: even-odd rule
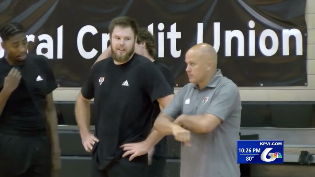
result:
[[[54,154],[60,154],[59,134],[58,134],[58,118],[56,109],[46,111],[47,125],[51,139],[51,146]]]

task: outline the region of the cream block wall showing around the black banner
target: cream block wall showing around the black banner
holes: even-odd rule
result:
[[[315,0],[306,3],[307,86],[302,87],[239,87],[242,101],[314,101],[315,100]],[[223,73],[224,74],[224,73]],[[58,88],[56,101],[74,101],[80,88]],[[175,88],[175,93],[180,88]]]

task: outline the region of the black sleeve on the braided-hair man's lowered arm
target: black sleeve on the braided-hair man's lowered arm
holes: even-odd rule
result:
[[[45,73],[46,76],[46,90],[45,94],[50,94],[52,91],[54,91],[56,88],[58,88],[54,72],[50,68],[50,66],[47,63],[47,58],[45,56],[40,55],[41,60],[41,69]]]

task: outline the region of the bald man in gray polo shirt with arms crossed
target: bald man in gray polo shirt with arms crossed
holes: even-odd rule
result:
[[[175,95],[154,128],[183,142],[181,177],[239,177],[238,87],[217,69],[217,53],[209,44],[193,46],[185,61],[190,83]]]

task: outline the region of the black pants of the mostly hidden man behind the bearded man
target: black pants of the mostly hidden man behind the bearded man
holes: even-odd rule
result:
[[[166,157],[152,157],[152,163],[149,166],[148,177],[164,177],[165,175]]]

